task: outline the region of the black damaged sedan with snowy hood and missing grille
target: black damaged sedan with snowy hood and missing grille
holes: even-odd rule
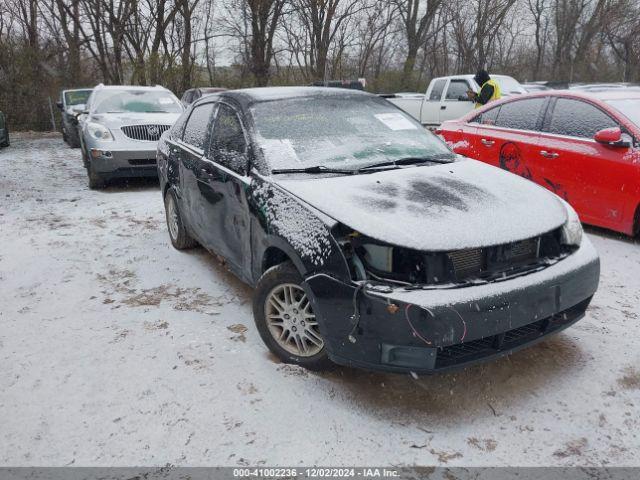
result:
[[[300,88],[202,98],[158,146],[176,248],[255,288],[286,362],[434,372],[583,317],[599,259],[571,207],[456,157],[386,100]]]

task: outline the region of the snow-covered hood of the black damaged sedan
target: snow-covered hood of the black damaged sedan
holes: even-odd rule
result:
[[[509,243],[563,225],[561,201],[542,187],[475,160],[278,185],[376,240],[416,250]]]

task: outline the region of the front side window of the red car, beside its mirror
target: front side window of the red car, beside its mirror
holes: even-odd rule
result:
[[[593,138],[597,131],[617,126],[615,120],[594,105],[559,98],[545,131],[570,137]]]

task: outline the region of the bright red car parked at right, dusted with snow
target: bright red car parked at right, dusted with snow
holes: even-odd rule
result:
[[[640,231],[640,88],[511,97],[436,133],[456,153],[555,192],[584,223]]]

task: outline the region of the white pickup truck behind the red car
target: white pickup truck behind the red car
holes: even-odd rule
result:
[[[506,75],[491,75],[498,82],[502,95],[527,93],[520,83]],[[435,128],[445,120],[460,118],[473,109],[473,102],[467,97],[467,90],[478,92],[480,86],[473,75],[452,75],[431,80],[427,93],[397,93],[383,95],[391,103],[419,120],[427,128]]]

